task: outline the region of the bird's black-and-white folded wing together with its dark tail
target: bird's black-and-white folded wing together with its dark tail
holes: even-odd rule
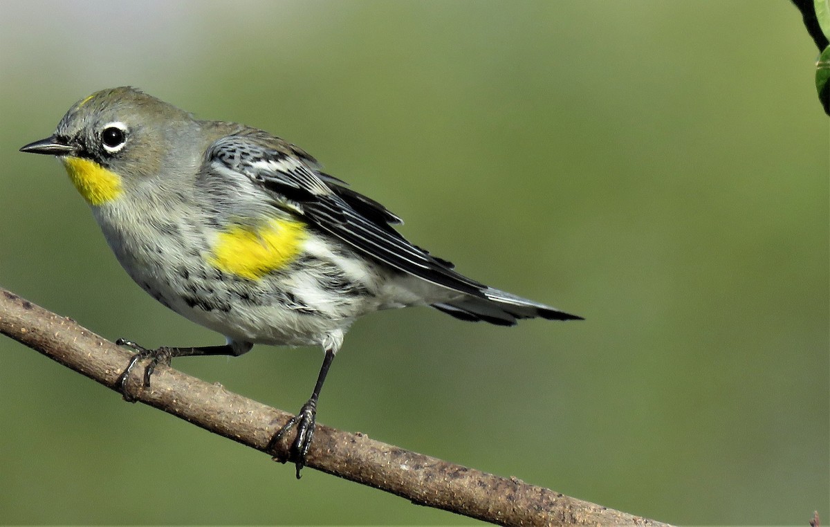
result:
[[[408,242],[392,227],[401,218],[386,207],[354,192],[344,181],[320,172],[320,164],[305,151],[256,129],[237,129],[218,139],[207,151],[207,163],[261,185],[276,203],[305,217],[305,221],[339,238],[360,254],[433,284],[465,293],[458,300],[433,307],[461,320],[486,320],[513,325],[518,319],[541,316],[574,320],[547,305],[487,287],[452,270],[452,263]]]

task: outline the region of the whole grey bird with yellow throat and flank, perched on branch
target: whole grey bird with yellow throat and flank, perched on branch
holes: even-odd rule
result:
[[[296,427],[297,477],[334,354],[361,315],[431,305],[461,320],[579,320],[453,271],[393,229],[400,218],[321,172],[309,154],[259,129],[193,116],[129,87],[73,105],[22,152],[56,155],[92,208],[121,266],[156,300],[225,335],[227,344],[144,349],[149,358],[241,355],[253,344],[319,344],[311,398],[274,434]]]

